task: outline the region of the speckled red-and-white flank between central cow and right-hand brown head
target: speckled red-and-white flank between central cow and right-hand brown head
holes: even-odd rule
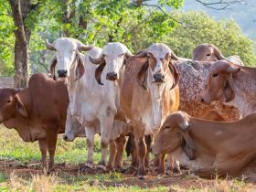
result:
[[[240,118],[239,110],[233,106],[225,105],[220,101],[214,101],[210,105],[206,105],[200,101],[207,82],[211,62],[186,61],[175,62],[175,65],[180,75],[179,110],[187,112],[191,116],[204,119],[221,120],[218,114],[229,122]],[[208,115],[206,115],[206,112]]]

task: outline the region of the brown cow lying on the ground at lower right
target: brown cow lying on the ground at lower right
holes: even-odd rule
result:
[[[161,155],[183,149],[193,165],[191,173],[197,176],[245,176],[253,171],[255,176],[255,124],[256,112],[233,123],[197,119],[186,112],[174,112],[161,127],[152,153]],[[254,169],[252,173],[250,169]]]

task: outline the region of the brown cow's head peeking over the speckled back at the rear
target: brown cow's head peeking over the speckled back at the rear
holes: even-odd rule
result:
[[[193,60],[216,61],[225,59],[219,48],[212,44],[201,44],[193,50]]]

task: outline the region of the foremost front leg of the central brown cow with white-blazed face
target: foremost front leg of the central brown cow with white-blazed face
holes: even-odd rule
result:
[[[144,142],[144,128],[143,127],[134,128],[134,135],[135,135],[135,142],[138,147],[138,157],[139,157],[139,167],[138,167],[137,175],[139,179],[145,179],[146,172],[145,172],[144,159],[146,154],[146,145]]]

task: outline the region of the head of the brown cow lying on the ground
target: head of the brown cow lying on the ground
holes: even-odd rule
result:
[[[196,145],[189,135],[190,116],[186,112],[170,114],[156,136],[151,150],[154,155],[172,153],[181,146],[190,160],[196,158]]]

